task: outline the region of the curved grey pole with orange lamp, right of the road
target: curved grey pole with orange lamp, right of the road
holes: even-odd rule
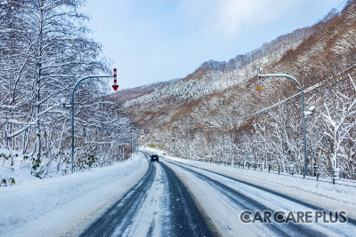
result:
[[[301,96],[302,96],[302,116],[303,116],[303,142],[304,142],[304,173],[303,173],[303,178],[305,178],[306,174],[308,173],[308,167],[307,167],[307,154],[306,154],[306,136],[305,136],[305,115],[304,115],[304,94],[303,94],[303,87],[301,83],[299,83],[295,77],[291,75],[286,75],[286,74],[267,74],[263,75],[260,74],[260,68],[257,68],[257,89],[261,90],[262,88],[262,83],[261,83],[261,77],[287,77],[289,79],[292,79],[295,83],[298,84],[299,89],[301,91]]]

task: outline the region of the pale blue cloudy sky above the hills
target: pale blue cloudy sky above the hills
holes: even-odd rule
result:
[[[93,39],[115,61],[120,90],[185,77],[206,60],[245,54],[311,26],[344,2],[88,0],[82,12],[91,17]]]

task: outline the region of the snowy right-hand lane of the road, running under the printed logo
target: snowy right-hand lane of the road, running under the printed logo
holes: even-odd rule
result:
[[[243,223],[241,213],[246,210],[313,212],[313,208],[279,194],[265,192],[255,186],[237,182],[211,171],[193,168],[177,162],[166,162],[184,180],[185,186],[198,201],[201,209],[212,220],[222,236],[354,236],[352,223],[311,223],[300,225]]]

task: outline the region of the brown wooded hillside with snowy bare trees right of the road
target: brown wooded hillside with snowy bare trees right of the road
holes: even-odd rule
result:
[[[355,1],[349,1],[312,27],[228,62],[205,62],[182,81],[128,99],[125,110],[150,129],[141,138],[146,145],[174,153],[177,138],[175,153],[182,157],[302,173],[296,83],[264,78],[263,89],[255,89],[257,67],[292,75],[303,86],[306,109],[315,107],[306,113],[309,175],[331,176],[340,169],[344,178],[356,178],[355,11]]]

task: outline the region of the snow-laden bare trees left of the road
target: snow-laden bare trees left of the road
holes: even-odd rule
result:
[[[87,37],[84,0],[0,1],[0,163],[39,178],[70,170],[70,105],[86,75],[112,75],[101,44]],[[134,125],[104,99],[107,82],[87,80],[75,92],[75,169],[123,159]],[[19,160],[18,157],[24,157]],[[4,182],[5,182],[4,181]]]

